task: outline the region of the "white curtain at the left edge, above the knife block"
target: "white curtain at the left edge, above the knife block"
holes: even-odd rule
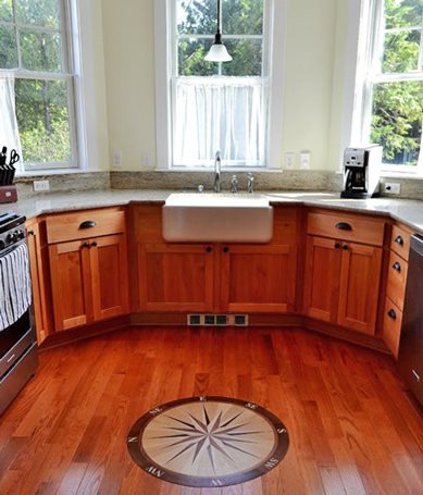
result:
[[[15,149],[20,154],[21,161],[15,166],[22,171],[22,148],[16,120],[14,76],[0,71],[0,151],[3,146],[8,147],[7,163],[9,163],[12,149]]]

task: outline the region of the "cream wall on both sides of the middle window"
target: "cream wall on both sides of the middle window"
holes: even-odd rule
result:
[[[312,169],[338,166],[339,147],[331,133],[336,135],[343,121],[339,70],[344,70],[345,46],[337,29],[339,21],[346,22],[343,3],[348,0],[287,0],[281,164],[286,151],[309,150]],[[151,170],[155,168],[153,0],[103,0],[102,14],[109,161],[114,150],[121,150],[122,166],[112,169]]]

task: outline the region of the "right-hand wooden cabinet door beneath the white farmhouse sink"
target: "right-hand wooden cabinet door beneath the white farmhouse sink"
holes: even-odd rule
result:
[[[221,247],[221,310],[288,312],[295,307],[295,246],[229,245]]]

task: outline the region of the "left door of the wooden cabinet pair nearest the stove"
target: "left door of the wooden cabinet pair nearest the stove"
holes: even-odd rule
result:
[[[89,247],[73,240],[49,246],[51,288],[57,332],[91,320]]]

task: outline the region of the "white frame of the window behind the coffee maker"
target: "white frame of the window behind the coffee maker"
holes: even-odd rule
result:
[[[400,81],[423,81],[423,71],[400,74],[380,74],[375,67],[381,66],[383,53],[384,0],[361,0],[360,24],[357,30],[358,58],[356,71],[356,94],[350,143],[366,144],[372,124],[373,85],[377,83]],[[421,53],[422,57],[422,53]],[[395,165],[382,163],[382,172],[423,175],[423,132],[422,144],[416,165]]]

